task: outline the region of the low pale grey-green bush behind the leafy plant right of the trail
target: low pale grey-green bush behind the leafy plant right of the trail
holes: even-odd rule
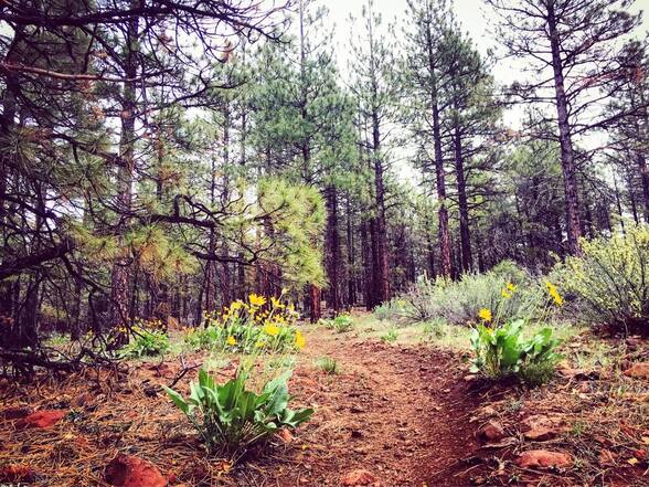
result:
[[[403,313],[413,321],[441,318],[449,324],[465,325],[475,321],[480,309],[498,307],[496,318],[504,321],[533,313],[539,294],[539,286],[523,271],[504,267],[467,274],[457,282],[422,278],[402,296]]]

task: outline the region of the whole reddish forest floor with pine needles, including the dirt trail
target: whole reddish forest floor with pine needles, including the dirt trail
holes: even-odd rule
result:
[[[181,368],[167,358],[29,385],[3,380],[0,475],[14,466],[39,487],[108,486],[106,465],[126,453],[155,464],[170,486],[187,487],[649,485],[647,380],[620,372],[649,359],[645,342],[613,353],[606,341],[578,336],[560,377],[528,390],[467,378],[465,335],[438,335],[436,345],[421,329],[402,327],[377,340],[392,326],[357,320],[345,334],[307,327],[289,389],[296,406],[316,414],[263,455],[235,466],[205,456],[158,388]],[[338,374],[316,364],[322,357],[337,361]],[[236,358],[185,353],[183,360],[224,379],[236,369]],[[187,392],[194,378],[195,370],[177,389]],[[25,428],[15,417],[24,406],[65,414],[52,427]],[[568,460],[521,466],[531,449]]]

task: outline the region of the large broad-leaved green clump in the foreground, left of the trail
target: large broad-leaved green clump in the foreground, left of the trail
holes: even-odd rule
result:
[[[237,460],[278,430],[294,430],[313,414],[312,409],[288,407],[290,374],[289,370],[269,380],[259,394],[246,389],[248,370],[243,367],[224,384],[216,383],[204,370],[199,371],[199,381],[191,384],[188,399],[172,389],[164,390],[196,428],[210,453]]]

